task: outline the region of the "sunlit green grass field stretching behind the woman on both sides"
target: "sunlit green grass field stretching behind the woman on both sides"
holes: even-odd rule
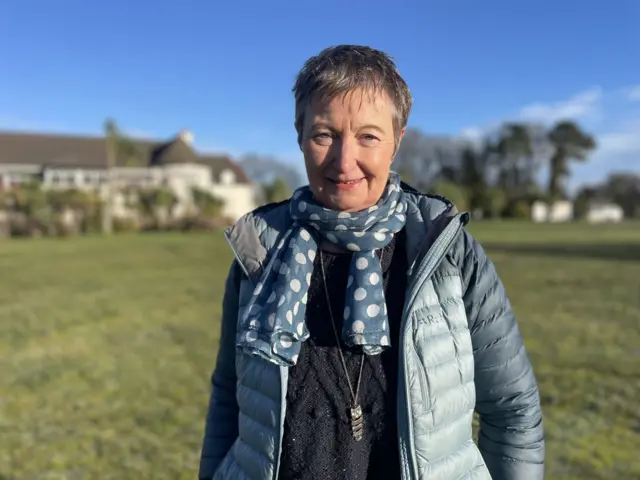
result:
[[[549,479],[640,478],[640,225],[478,223],[543,399]],[[221,235],[0,243],[0,480],[196,478]]]

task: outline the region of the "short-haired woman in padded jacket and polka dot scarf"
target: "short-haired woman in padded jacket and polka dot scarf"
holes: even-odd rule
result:
[[[309,186],[227,231],[200,478],[543,478],[496,271],[467,215],[390,171],[411,109],[393,61],[328,48],[294,93]]]

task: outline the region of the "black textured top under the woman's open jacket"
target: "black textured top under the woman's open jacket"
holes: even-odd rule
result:
[[[352,397],[331,326],[320,255],[316,257],[306,313],[311,337],[303,343],[297,364],[289,370],[280,480],[400,478],[396,398],[398,335],[407,272],[405,244],[401,231],[382,255],[392,346],[381,355],[365,356],[359,395],[365,429],[359,442],[354,440],[349,424]],[[340,335],[351,254],[321,255]],[[363,354],[360,348],[345,348],[355,390]]]

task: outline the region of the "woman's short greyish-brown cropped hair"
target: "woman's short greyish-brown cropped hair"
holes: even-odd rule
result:
[[[302,143],[304,112],[312,100],[326,101],[359,88],[372,93],[384,91],[391,98],[395,108],[393,127],[397,146],[400,132],[409,120],[411,92],[393,57],[362,45],[325,48],[305,62],[292,89],[298,143]]]

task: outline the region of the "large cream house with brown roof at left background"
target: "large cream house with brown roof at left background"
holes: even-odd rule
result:
[[[229,157],[197,152],[188,131],[166,141],[127,139],[126,144],[128,151],[119,149],[111,170],[116,190],[170,188],[178,199],[179,214],[192,201],[192,189],[198,188],[223,200],[223,215],[232,221],[256,206],[254,186],[242,169]],[[44,188],[104,192],[105,138],[0,132],[0,189],[33,179],[42,181]],[[115,210],[118,215],[117,205]]]

